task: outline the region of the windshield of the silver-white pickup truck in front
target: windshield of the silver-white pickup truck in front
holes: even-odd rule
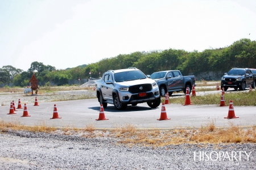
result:
[[[138,79],[146,79],[146,76],[139,70],[124,71],[114,74],[115,82],[125,82]]]

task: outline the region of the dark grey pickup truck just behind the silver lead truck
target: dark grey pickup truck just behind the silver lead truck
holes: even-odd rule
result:
[[[179,70],[159,71],[152,73],[149,77],[158,83],[161,96],[165,96],[167,91],[170,96],[174,91],[186,93],[187,87],[190,94],[192,85],[196,86],[194,75],[183,76]]]

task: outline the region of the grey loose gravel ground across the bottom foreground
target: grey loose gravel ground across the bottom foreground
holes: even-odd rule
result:
[[[255,169],[255,145],[183,144],[126,147],[118,138],[84,138],[61,133],[9,130],[0,134],[0,169]],[[212,160],[194,154],[213,152]],[[236,160],[216,160],[216,153],[251,152]],[[205,157],[206,158],[206,157]],[[195,159],[195,160],[194,160]],[[230,158],[231,159],[231,158]]]

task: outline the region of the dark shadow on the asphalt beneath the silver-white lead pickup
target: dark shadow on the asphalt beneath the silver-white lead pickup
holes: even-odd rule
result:
[[[156,108],[142,107],[142,106],[138,106],[138,105],[136,105],[136,106],[127,105],[126,109],[117,110],[113,105],[110,105],[110,106],[104,108],[104,111],[107,111],[107,112],[139,112],[139,111],[151,111],[154,109],[158,109],[160,107],[161,107],[160,105],[159,105],[159,107],[156,107]],[[100,107],[90,107],[88,109],[92,109],[94,111],[100,111]]]

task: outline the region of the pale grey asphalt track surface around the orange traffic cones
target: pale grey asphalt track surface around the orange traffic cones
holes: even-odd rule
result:
[[[221,94],[221,91],[211,91]],[[204,92],[197,92],[197,95]],[[184,97],[181,96],[181,97]],[[39,106],[27,104],[28,114],[31,117],[21,117],[23,109],[18,109],[15,113],[7,114],[10,111],[10,105],[0,107],[1,118],[6,121],[20,122],[22,125],[47,125],[63,128],[85,128],[86,125],[94,125],[96,128],[118,128],[120,126],[131,124],[137,128],[184,128],[206,126],[214,122],[217,127],[230,126],[250,126],[255,125],[256,111],[255,107],[236,107],[234,112],[239,118],[226,119],[229,107],[218,107],[218,105],[186,105],[166,104],[167,117],[171,120],[158,121],[160,118],[162,104],[158,108],[152,109],[146,103],[138,104],[133,107],[128,105],[124,111],[117,111],[114,105],[109,104],[104,108],[105,117],[109,120],[96,121],[100,114],[100,104],[97,99],[56,101],[40,103]],[[59,119],[50,119],[53,117],[53,106],[56,104]],[[229,103],[226,102],[228,105]],[[17,104],[16,104],[17,107]],[[23,106],[22,106],[23,107]]]

